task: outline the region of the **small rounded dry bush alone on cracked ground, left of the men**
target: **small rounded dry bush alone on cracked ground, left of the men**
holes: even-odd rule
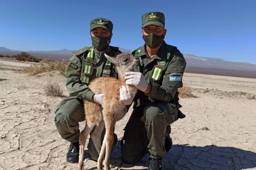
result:
[[[57,83],[52,83],[51,81],[47,81],[46,85],[43,86],[45,94],[53,97],[62,97],[63,89]]]

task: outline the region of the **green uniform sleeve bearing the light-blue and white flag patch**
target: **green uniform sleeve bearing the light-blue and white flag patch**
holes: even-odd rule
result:
[[[156,87],[151,85],[151,91],[146,96],[154,101],[169,102],[173,99],[180,85],[185,72],[186,61],[179,50],[173,52],[173,58],[168,63],[162,86]]]

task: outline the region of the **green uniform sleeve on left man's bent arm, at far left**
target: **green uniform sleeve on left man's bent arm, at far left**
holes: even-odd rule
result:
[[[89,90],[87,85],[81,82],[81,71],[82,63],[77,56],[73,55],[69,59],[68,67],[65,70],[66,88],[69,94],[80,98],[87,98],[93,102],[92,96],[94,93]]]

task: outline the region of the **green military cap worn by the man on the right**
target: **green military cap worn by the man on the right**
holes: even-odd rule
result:
[[[141,16],[142,28],[147,25],[165,27],[165,15],[161,12],[147,12]]]

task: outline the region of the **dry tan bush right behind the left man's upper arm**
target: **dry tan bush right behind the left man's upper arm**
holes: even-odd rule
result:
[[[62,59],[62,61],[60,62],[60,61],[50,61],[49,59],[45,58],[41,62],[45,63],[45,69],[47,71],[59,70],[60,72],[65,72],[65,69],[68,65],[65,59]]]

